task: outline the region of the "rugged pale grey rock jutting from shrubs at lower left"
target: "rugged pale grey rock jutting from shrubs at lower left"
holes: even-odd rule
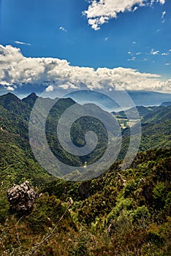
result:
[[[7,191],[7,199],[12,210],[23,214],[31,211],[36,197],[36,192],[29,186],[29,181],[25,181],[23,184],[14,186]]]

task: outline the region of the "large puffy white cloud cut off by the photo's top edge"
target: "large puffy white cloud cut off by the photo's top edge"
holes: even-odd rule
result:
[[[151,6],[155,1],[165,3],[165,0],[151,0],[150,4],[146,0],[92,0],[83,15],[92,29],[99,30],[102,24],[117,18],[119,12],[134,12],[138,7]]]

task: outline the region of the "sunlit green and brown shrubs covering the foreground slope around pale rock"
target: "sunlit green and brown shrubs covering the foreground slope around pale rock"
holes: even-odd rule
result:
[[[39,177],[25,214],[10,210],[1,189],[0,254],[170,255],[170,160],[170,149],[151,150],[92,181]]]

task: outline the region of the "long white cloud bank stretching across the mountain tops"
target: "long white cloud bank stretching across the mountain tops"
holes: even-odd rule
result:
[[[170,80],[171,81],[171,80]],[[9,90],[23,84],[67,89],[171,90],[171,82],[160,75],[142,73],[137,69],[73,67],[66,60],[26,58],[19,48],[0,45],[0,84]],[[35,88],[35,87],[34,87]]]

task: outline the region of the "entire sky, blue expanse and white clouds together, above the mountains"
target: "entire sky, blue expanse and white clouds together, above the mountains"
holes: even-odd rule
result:
[[[0,93],[171,92],[171,0],[0,0]]]

